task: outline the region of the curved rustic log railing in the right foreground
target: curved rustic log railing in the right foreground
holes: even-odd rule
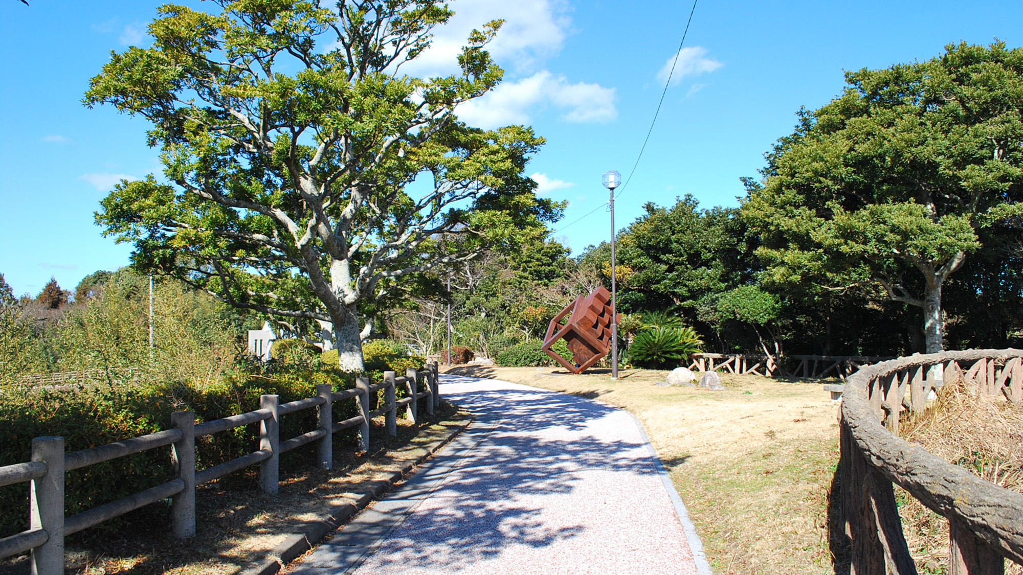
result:
[[[856,575],[916,574],[892,484],[949,523],[949,575],[1002,574],[1023,564],[1023,494],[900,439],[899,413],[920,413],[931,390],[965,380],[987,396],[1023,403],[1023,350],[915,355],[846,381],[841,424],[841,508]]]

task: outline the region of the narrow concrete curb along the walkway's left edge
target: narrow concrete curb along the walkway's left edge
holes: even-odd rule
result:
[[[331,505],[327,513],[319,520],[306,522],[300,533],[288,535],[287,538],[274,547],[269,552],[269,559],[260,561],[256,565],[249,567],[248,569],[243,569],[238,573],[238,575],[275,575],[288,563],[295,561],[302,554],[311,549],[313,545],[319,542],[319,540],[322,539],[327,533],[343,525],[352,516],[362,511],[371,501],[380,498],[381,495],[390,491],[394,485],[404,479],[406,475],[432,457],[434,453],[439,451],[456,437],[461,435],[461,433],[469,429],[474,422],[476,422],[476,416],[470,415],[469,421],[465,422],[464,425],[459,426],[454,433],[424,447],[422,454],[416,457],[413,461],[405,465],[401,470],[393,472],[387,479],[377,481],[369,489],[369,491],[363,493],[362,496],[356,499],[354,503],[349,502],[342,505]]]

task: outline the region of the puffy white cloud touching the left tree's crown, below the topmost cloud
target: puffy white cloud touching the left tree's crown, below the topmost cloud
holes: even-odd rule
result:
[[[477,100],[458,106],[458,117],[481,128],[527,124],[531,115],[553,105],[567,122],[606,122],[618,117],[615,89],[599,84],[570,84],[564,76],[542,71],[518,82],[505,82]]]

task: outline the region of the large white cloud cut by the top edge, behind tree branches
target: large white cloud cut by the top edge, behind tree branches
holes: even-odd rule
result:
[[[567,5],[560,0],[455,0],[451,9],[455,15],[434,30],[430,49],[404,64],[403,74],[417,77],[457,74],[458,53],[470,32],[482,30],[484,24],[493,19],[503,19],[504,25],[487,45],[491,56],[514,71],[535,70],[539,62],[562,49],[571,25],[565,16]]]

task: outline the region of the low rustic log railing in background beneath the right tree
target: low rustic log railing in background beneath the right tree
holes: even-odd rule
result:
[[[718,371],[746,375],[766,375],[768,378],[840,378],[845,380],[864,365],[892,359],[862,355],[784,355],[738,353],[695,353],[690,369],[694,371]],[[793,362],[795,364],[793,365]],[[786,369],[786,364],[793,365]]]

